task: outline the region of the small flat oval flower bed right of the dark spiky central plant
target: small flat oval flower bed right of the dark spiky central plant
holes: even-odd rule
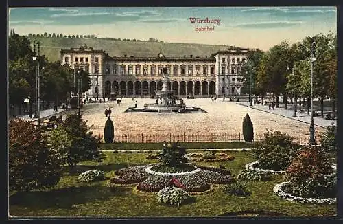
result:
[[[226,153],[189,153],[186,155],[189,161],[198,162],[218,162],[218,161],[231,161],[235,159],[232,155]]]

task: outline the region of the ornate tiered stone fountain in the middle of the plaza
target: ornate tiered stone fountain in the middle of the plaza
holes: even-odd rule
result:
[[[200,107],[186,107],[182,98],[174,96],[175,91],[168,89],[169,78],[166,76],[167,68],[163,68],[163,85],[161,90],[155,90],[156,102],[144,104],[144,107],[129,107],[125,112],[156,112],[156,113],[187,113],[191,111],[205,112]]]

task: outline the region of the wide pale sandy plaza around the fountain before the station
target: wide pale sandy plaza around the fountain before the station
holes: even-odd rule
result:
[[[154,102],[150,98],[123,98],[122,104],[117,105],[115,101],[86,104],[82,109],[84,120],[88,120],[88,125],[93,125],[92,131],[95,135],[104,135],[104,124],[107,117],[104,115],[104,110],[111,108],[111,120],[115,126],[115,135],[173,135],[177,134],[196,134],[196,133],[228,133],[230,135],[241,133],[243,117],[248,113],[251,117],[254,126],[255,135],[263,135],[266,129],[279,130],[282,133],[287,133],[294,137],[301,136],[302,139],[309,137],[309,115],[299,115],[298,120],[292,119],[291,113],[281,116],[278,109],[273,113],[268,113],[259,108],[267,108],[268,106],[257,105],[255,107],[246,107],[248,102],[228,102],[222,101],[222,98],[217,98],[216,102],[212,102],[211,98],[182,98],[187,107],[201,107],[207,113],[124,113],[128,107],[134,107],[137,101],[139,107],[143,104]],[[279,108],[280,110],[283,110]],[[323,126],[329,126],[332,121],[324,120],[320,117],[315,117],[316,135],[324,131]]]

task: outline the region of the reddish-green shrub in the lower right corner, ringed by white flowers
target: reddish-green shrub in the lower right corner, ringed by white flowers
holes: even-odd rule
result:
[[[316,146],[300,151],[286,170],[287,192],[300,197],[335,197],[336,175],[327,156]]]

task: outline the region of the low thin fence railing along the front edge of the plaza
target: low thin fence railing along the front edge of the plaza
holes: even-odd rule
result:
[[[104,142],[104,136],[99,135],[99,138]],[[263,134],[255,134],[254,142],[260,142],[263,139]],[[318,137],[316,137],[318,139]],[[244,142],[242,133],[163,133],[163,134],[123,134],[115,135],[114,142],[122,143],[148,143],[148,142]],[[298,135],[294,136],[294,142],[298,144],[307,144],[309,136]]]

